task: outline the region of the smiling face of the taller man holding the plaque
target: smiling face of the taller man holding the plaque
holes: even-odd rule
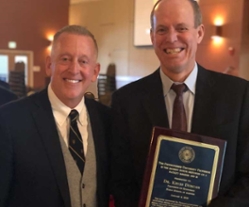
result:
[[[182,82],[193,70],[204,26],[195,28],[194,12],[187,0],[162,0],[154,10],[151,41],[165,75]]]

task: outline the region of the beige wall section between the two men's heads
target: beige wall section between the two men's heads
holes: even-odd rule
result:
[[[96,36],[101,72],[115,63],[117,75],[145,76],[158,67],[152,47],[133,46],[133,0],[102,0],[70,6],[69,23]],[[148,14],[149,21],[149,14]]]

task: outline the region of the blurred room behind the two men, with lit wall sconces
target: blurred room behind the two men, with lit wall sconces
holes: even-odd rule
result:
[[[249,0],[199,0],[205,37],[197,62],[249,79]],[[99,46],[101,74],[89,92],[104,104],[117,88],[159,66],[150,43],[154,0],[0,0],[0,80],[19,97],[47,86],[45,58],[54,33],[87,27]]]

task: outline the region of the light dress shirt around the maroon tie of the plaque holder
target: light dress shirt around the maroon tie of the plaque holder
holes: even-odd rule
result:
[[[193,108],[194,108],[194,99],[195,99],[195,87],[196,87],[196,79],[197,79],[197,64],[195,63],[194,69],[186,78],[184,83],[188,87],[188,90],[183,94],[183,104],[187,116],[187,124],[188,124],[188,132],[191,131],[192,127],[192,116],[193,116]],[[173,113],[173,104],[176,97],[175,92],[171,89],[172,84],[174,83],[169,77],[167,77],[163,71],[160,69],[160,76],[163,84],[163,94],[166,105],[166,110],[168,114],[169,127],[172,126],[172,113]],[[180,84],[180,83],[176,83]]]

